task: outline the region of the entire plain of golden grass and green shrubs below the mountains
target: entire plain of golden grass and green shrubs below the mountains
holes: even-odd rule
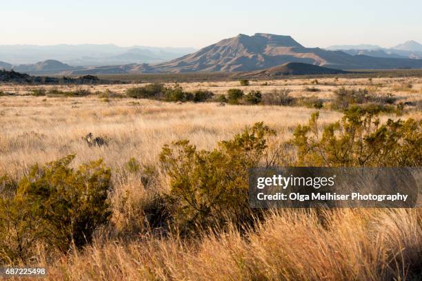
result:
[[[261,91],[262,105],[225,107],[202,101],[227,102],[239,79],[114,99],[134,86],[1,85],[17,93],[0,98],[1,265],[48,265],[48,280],[419,280],[418,209],[249,209],[255,165],[421,166],[420,80],[333,78],[311,97],[310,78],[254,82],[236,103]]]

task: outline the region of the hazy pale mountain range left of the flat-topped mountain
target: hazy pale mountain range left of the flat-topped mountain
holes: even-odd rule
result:
[[[57,60],[72,66],[159,63],[195,52],[194,48],[117,45],[0,45],[0,61],[13,65]]]

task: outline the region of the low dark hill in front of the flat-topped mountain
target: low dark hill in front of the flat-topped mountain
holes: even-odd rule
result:
[[[246,72],[241,76],[274,77],[285,75],[314,75],[314,74],[346,74],[344,70],[311,65],[309,63],[284,63],[283,65],[270,67],[265,70]]]

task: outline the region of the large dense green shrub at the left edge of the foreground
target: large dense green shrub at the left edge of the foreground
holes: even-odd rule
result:
[[[91,242],[110,218],[110,169],[101,160],[69,167],[74,155],[40,167],[19,180],[0,202],[0,254],[24,261],[37,243],[66,252]]]

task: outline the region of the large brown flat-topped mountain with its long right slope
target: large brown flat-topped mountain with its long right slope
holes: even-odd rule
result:
[[[154,65],[162,72],[243,72],[262,70],[288,62],[338,69],[421,68],[422,60],[351,55],[341,51],[305,48],[290,36],[239,34],[182,56]]]

